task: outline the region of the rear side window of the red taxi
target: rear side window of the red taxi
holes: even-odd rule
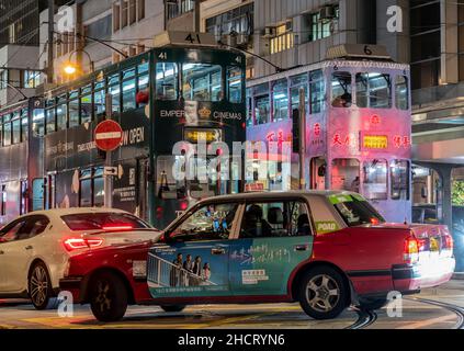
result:
[[[309,213],[301,201],[249,203],[240,238],[273,238],[312,235]]]

